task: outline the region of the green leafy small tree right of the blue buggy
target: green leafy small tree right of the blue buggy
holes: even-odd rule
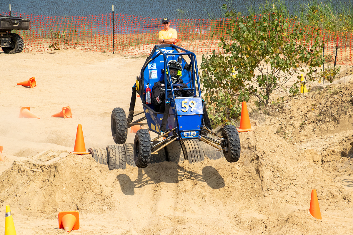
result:
[[[306,32],[266,10],[260,19],[233,11],[225,16],[233,27],[220,38],[223,52],[204,55],[201,63],[203,93],[213,125],[231,123],[240,115],[241,102],[251,97],[261,106],[268,105],[273,92],[298,93],[299,73],[305,74],[306,82],[323,76],[318,31]],[[287,87],[289,81],[294,84]]]

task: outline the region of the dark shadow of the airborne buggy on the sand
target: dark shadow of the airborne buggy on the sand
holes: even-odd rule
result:
[[[169,168],[168,171],[156,171],[154,167],[138,168],[136,180],[132,181],[126,174],[119,174],[116,179],[119,181],[121,192],[125,195],[134,195],[134,188],[142,188],[146,185],[158,183],[178,184],[184,179],[206,182],[213,189],[225,186],[225,181],[220,173],[211,166],[205,166],[202,169],[202,174],[187,170],[181,166]]]

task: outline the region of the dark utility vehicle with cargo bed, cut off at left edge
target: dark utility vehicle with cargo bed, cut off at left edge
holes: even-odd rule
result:
[[[12,16],[0,16],[0,46],[6,54],[23,51],[23,40],[12,30],[29,30],[30,19]]]

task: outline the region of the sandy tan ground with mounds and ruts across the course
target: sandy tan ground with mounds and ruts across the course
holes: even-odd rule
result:
[[[240,133],[236,163],[206,156],[109,171],[69,153],[77,125],[86,149],[115,144],[110,114],[127,112],[145,57],[68,49],[0,60],[0,208],[11,206],[18,235],[66,234],[58,212],[71,210],[80,213],[72,234],[353,234],[352,83],[263,111],[249,104],[256,129]],[[16,85],[33,76],[37,87]],[[40,119],[19,118],[23,106]],[[64,106],[72,118],[51,117]],[[322,219],[309,213],[312,189]]]

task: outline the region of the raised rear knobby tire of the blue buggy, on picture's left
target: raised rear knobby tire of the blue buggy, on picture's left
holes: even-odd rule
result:
[[[112,111],[110,118],[110,125],[112,126],[113,140],[117,144],[123,144],[127,138],[127,119],[123,109],[115,108]]]

